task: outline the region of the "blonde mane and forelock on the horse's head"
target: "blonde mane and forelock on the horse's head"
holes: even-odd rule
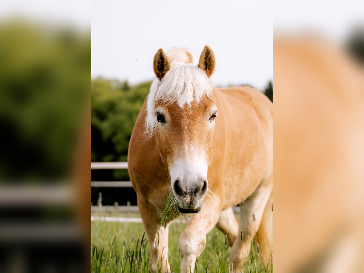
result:
[[[195,62],[193,53],[187,48],[172,48],[167,52],[171,68],[161,81],[156,77],[150,87],[146,107],[146,134],[153,134],[157,118],[155,102],[177,102],[180,107],[187,106],[203,96],[211,96],[213,86],[205,71]]]

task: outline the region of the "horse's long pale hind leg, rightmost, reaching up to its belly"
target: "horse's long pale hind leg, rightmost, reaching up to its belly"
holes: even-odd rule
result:
[[[244,205],[240,204],[239,236],[232,246],[232,262],[234,266],[236,265],[237,270],[241,268],[242,262],[249,257],[251,243],[259,229],[272,188],[272,178],[263,179],[254,193],[244,201]],[[243,242],[241,242],[240,230],[243,233]],[[253,247],[256,248],[257,246]]]

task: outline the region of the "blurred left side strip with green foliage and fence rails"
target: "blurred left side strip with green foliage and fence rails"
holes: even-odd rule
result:
[[[0,3],[0,272],[90,271],[87,5]]]

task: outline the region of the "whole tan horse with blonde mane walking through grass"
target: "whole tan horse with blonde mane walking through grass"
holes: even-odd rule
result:
[[[174,48],[168,55],[160,49],[153,67],[157,78],[139,112],[128,151],[129,175],[151,245],[152,271],[157,266],[162,272],[170,270],[172,219],[158,228],[171,191],[188,222],[179,238],[181,272],[193,272],[206,234],[215,225],[227,234],[237,269],[242,257],[248,257],[255,234],[267,262],[272,250],[273,104],[250,87],[215,88],[210,82],[215,56],[208,46],[198,64],[187,49]],[[211,198],[205,198],[208,190]],[[232,207],[243,198],[245,213],[239,222]]]

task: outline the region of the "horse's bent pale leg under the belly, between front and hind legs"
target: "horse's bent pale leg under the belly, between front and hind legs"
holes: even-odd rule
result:
[[[239,221],[231,207],[221,211],[216,227],[227,235],[229,245],[233,245],[239,231]]]

